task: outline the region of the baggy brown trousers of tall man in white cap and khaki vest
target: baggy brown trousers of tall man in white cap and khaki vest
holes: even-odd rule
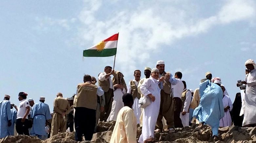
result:
[[[163,130],[163,122],[162,119],[165,117],[166,123],[168,128],[174,128],[174,118],[173,118],[173,101],[170,94],[161,90],[161,102],[160,102],[160,109],[159,115],[157,117],[156,126],[158,129]]]

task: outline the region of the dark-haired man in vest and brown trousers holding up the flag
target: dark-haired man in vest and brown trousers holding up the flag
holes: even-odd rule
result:
[[[99,86],[104,90],[105,96],[105,107],[104,111],[100,113],[100,121],[107,121],[111,111],[114,93],[113,83],[110,76],[114,73],[115,71],[112,70],[111,66],[106,66],[104,72],[100,73],[98,76]]]

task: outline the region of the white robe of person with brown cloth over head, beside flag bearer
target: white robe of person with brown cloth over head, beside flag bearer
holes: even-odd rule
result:
[[[112,121],[112,120],[116,120],[117,114],[119,112],[119,110],[124,107],[124,103],[123,103],[123,95],[126,93],[125,88],[123,90],[121,90],[120,88],[116,89],[114,91],[114,97],[113,97],[113,102],[112,102],[112,107],[111,107],[111,111],[110,114],[108,116],[107,121]]]

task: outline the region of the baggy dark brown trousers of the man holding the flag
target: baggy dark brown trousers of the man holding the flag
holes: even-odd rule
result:
[[[100,121],[107,121],[108,116],[111,111],[112,102],[113,102],[113,96],[114,92],[113,89],[109,89],[108,92],[104,93],[105,96],[105,106],[104,111],[100,113]]]

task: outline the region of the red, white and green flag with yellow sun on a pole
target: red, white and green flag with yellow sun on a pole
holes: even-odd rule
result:
[[[97,45],[84,50],[84,57],[109,57],[116,55],[118,35],[119,33],[114,34]]]

